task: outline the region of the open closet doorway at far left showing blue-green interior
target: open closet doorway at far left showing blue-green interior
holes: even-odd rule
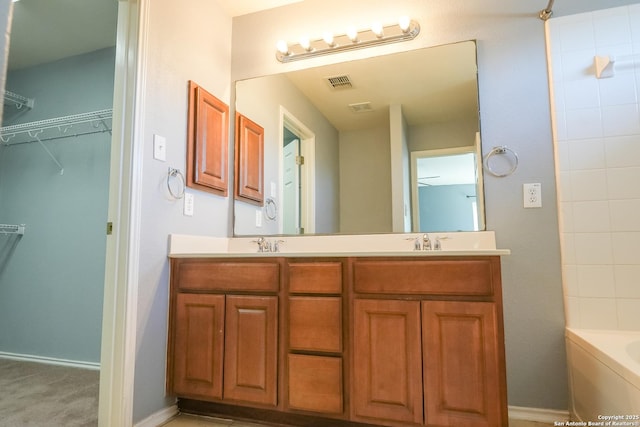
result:
[[[24,224],[2,255],[0,357],[92,371],[80,396],[93,399],[88,420],[98,418],[117,20],[118,2],[13,3],[0,143],[0,223]]]

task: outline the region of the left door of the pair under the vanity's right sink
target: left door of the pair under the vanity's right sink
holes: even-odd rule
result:
[[[353,334],[354,417],[422,423],[420,302],[355,300]]]

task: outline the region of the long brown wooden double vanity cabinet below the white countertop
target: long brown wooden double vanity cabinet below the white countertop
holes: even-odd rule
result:
[[[168,391],[291,425],[506,426],[503,254],[173,255]]]

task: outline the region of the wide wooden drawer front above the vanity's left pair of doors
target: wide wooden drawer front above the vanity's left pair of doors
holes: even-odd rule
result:
[[[185,261],[177,265],[180,290],[273,291],[279,289],[275,262]]]

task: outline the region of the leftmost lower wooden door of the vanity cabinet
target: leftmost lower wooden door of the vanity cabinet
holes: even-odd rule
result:
[[[173,391],[178,396],[222,398],[224,296],[176,296]]]

